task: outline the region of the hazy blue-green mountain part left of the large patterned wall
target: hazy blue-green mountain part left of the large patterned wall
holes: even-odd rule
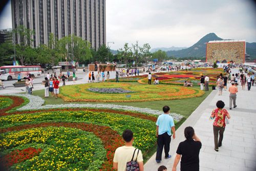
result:
[[[215,33],[209,33],[201,38],[196,44],[179,51],[167,51],[167,56],[182,57],[204,57],[206,50],[206,43],[211,40],[223,40]]]

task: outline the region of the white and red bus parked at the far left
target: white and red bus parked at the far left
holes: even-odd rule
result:
[[[13,65],[13,66],[0,66],[2,71],[2,80],[17,79],[18,74],[20,78],[27,77],[29,74],[41,76],[42,71],[40,66],[24,66],[24,65]]]

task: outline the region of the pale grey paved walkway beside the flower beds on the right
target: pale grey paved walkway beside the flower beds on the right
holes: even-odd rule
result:
[[[228,85],[229,86],[229,85]],[[191,126],[202,141],[200,151],[200,170],[220,170],[220,171],[247,171],[256,170],[256,86],[248,91],[242,90],[238,86],[237,108],[229,110],[229,92],[223,91],[221,96],[218,90],[212,91],[203,103],[186,119],[186,121],[176,131],[176,139],[170,142],[171,159],[162,157],[161,163],[156,163],[154,154],[144,165],[144,170],[157,170],[160,165],[165,165],[168,170],[172,170],[176,150],[181,141],[185,140],[184,128]],[[223,145],[219,152],[214,150],[214,134],[212,121],[209,120],[215,104],[222,100],[231,118],[230,124],[226,126],[223,138]],[[184,104],[185,105],[185,104]],[[172,109],[172,106],[170,106]],[[164,152],[163,152],[164,155]],[[180,163],[177,170],[180,170]]]

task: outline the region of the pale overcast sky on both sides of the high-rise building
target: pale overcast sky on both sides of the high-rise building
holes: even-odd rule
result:
[[[136,40],[152,48],[189,47],[208,33],[256,42],[255,16],[249,0],[106,0],[106,40],[114,50]],[[0,29],[11,27],[9,3]]]

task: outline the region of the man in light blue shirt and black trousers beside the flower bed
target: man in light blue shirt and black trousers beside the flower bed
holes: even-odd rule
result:
[[[163,107],[164,114],[161,114],[157,118],[157,155],[156,162],[160,163],[162,160],[162,152],[164,147],[165,159],[172,156],[169,155],[170,150],[170,137],[172,136],[171,129],[173,131],[173,138],[175,139],[175,126],[174,119],[169,115],[170,108],[168,106]]]

